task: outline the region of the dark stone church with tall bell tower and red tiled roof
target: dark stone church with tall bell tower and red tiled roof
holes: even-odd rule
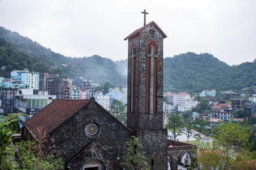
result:
[[[67,169],[122,169],[125,142],[137,136],[150,169],[167,169],[168,140],[163,128],[163,39],[155,22],[128,39],[127,126],[90,100],[58,99],[24,123],[22,139],[54,138],[53,153]]]

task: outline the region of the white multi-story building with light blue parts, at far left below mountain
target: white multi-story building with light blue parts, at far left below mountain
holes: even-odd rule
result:
[[[13,70],[11,72],[13,81],[23,81],[24,88],[39,90],[39,73],[24,69],[22,71]]]

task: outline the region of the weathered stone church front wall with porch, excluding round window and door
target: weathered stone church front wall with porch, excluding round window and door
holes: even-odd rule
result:
[[[98,131],[90,136],[85,128],[92,123],[97,125]],[[26,131],[28,126],[22,133],[28,134]],[[69,169],[83,169],[91,160],[100,162],[104,167],[102,169],[119,169],[120,158],[127,148],[125,142],[132,134],[131,130],[92,100],[51,131],[49,139],[54,138],[56,145],[52,153],[62,157]],[[30,136],[23,136],[23,139],[26,138],[31,140]]]

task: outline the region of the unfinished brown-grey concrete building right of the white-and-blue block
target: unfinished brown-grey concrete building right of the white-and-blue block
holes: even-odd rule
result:
[[[47,91],[56,95],[57,99],[64,99],[64,88],[68,87],[68,77],[59,74],[40,73],[40,91]]]

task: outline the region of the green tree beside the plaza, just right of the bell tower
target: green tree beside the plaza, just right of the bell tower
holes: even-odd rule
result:
[[[184,127],[184,119],[182,117],[182,113],[179,115],[171,115],[169,117],[167,127],[168,127],[168,129],[173,130],[173,138],[175,140],[177,138],[177,136],[180,135],[180,132],[182,131],[182,128]]]

